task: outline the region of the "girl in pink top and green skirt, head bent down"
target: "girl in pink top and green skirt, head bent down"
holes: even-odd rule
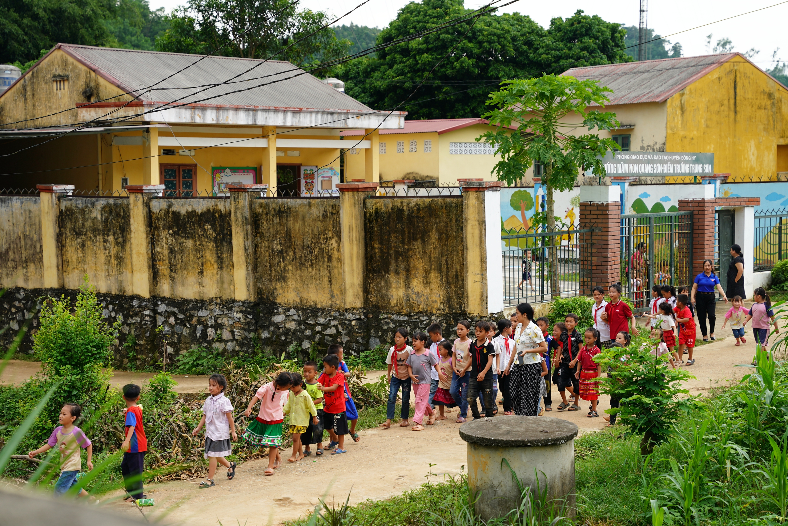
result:
[[[282,458],[279,454],[279,446],[282,445],[282,422],[284,412],[282,412],[283,400],[292,385],[292,378],[286,372],[281,372],[273,382],[266,383],[257,390],[257,393],[249,402],[244,416],[250,416],[252,408],[260,401],[260,412],[257,418],[252,420],[246,431],[243,431],[242,438],[252,446],[268,446],[268,468],[266,475],[273,475],[273,470],[279,467]]]

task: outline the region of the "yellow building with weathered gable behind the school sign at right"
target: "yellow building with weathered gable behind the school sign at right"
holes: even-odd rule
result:
[[[727,181],[788,180],[788,88],[740,53],[595,65],[563,75],[610,88],[604,111],[615,113],[620,127],[599,134],[623,151],[713,153],[714,172],[729,174]],[[665,182],[693,177],[685,179]]]

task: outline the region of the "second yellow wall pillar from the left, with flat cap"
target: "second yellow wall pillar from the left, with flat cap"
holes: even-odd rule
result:
[[[153,259],[151,250],[151,198],[161,196],[164,185],[127,185],[132,245],[132,293],[151,297]]]

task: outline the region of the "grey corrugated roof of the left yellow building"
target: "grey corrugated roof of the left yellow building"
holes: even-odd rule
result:
[[[72,44],[58,44],[58,47],[124,91],[135,91],[156,84],[200,58],[200,55],[192,54],[111,47]],[[255,64],[259,65],[249,73],[243,73]],[[203,89],[195,86],[222,82],[236,75],[240,76],[232,80],[232,84],[221,84],[192,95]],[[178,100],[179,104],[203,101],[200,103],[210,106],[372,111],[370,107],[336,91],[317,77],[304,73],[303,69],[296,68],[290,62],[213,56],[158,84],[153,91],[140,92],[138,99],[153,102]]]

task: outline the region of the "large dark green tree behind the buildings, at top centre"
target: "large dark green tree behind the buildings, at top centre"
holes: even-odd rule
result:
[[[377,44],[472,12],[463,0],[410,2],[377,35]],[[581,10],[566,20],[552,19],[545,29],[526,15],[496,14],[491,9],[475,24],[469,20],[351,61],[336,76],[345,81],[348,95],[377,109],[400,105],[426,79],[418,93],[398,108],[407,110],[409,119],[478,117],[485,111],[490,87],[499,80],[562,73],[571,65],[630,61],[617,51],[623,47],[625,34],[619,24],[589,17]],[[419,102],[426,99],[429,104]]]

